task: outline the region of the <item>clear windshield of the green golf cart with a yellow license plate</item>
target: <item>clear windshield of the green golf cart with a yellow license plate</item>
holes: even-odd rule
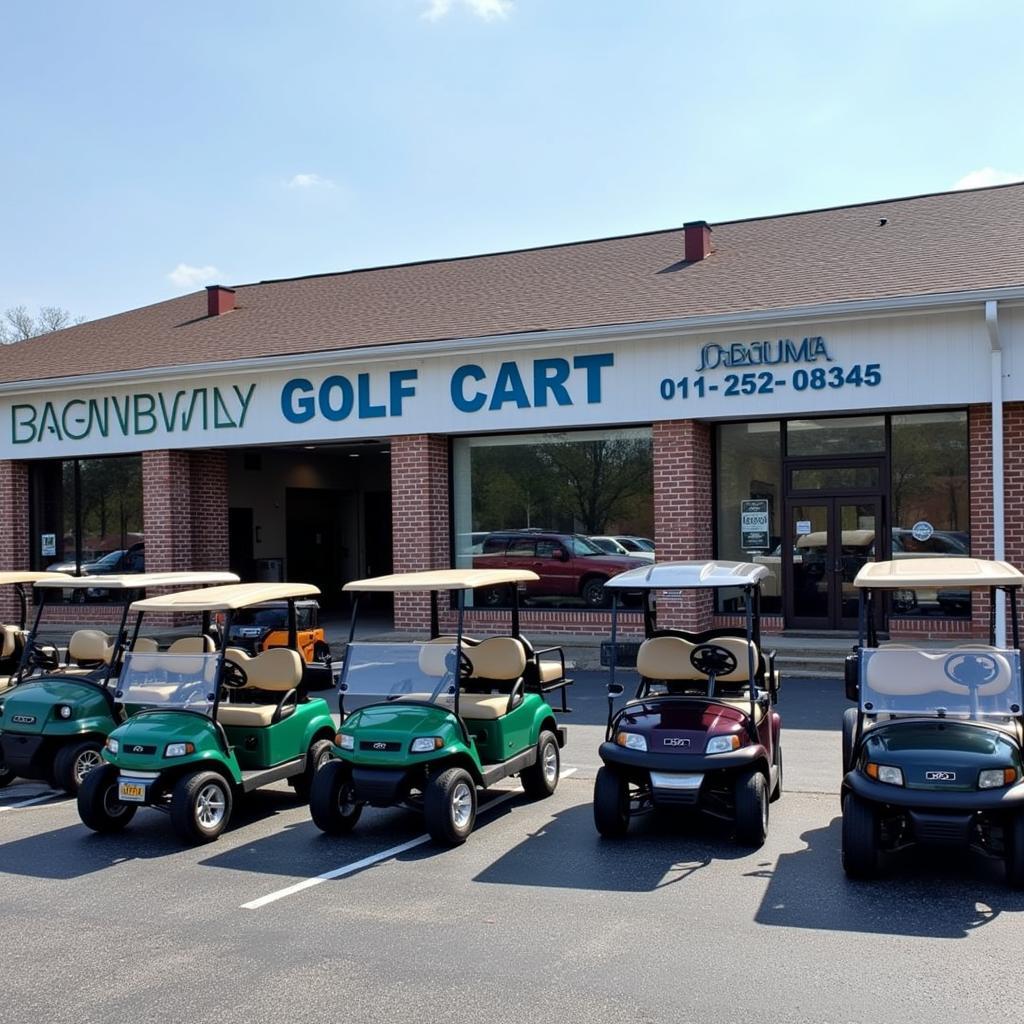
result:
[[[217,654],[125,654],[115,697],[143,708],[213,711]]]

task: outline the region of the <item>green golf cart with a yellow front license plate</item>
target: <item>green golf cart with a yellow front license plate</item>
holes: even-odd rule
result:
[[[242,609],[318,593],[309,584],[251,583],[136,601],[133,641],[150,613],[223,612],[226,626],[217,649],[124,655],[115,697],[132,714],[79,790],[82,821],[117,831],[139,807],[154,807],[170,814],[183,841],[208,843],[247,793],[287,779],[304,799],[335,733],[327,700],[309,695],[331,688],[330,667],[307,665],[294,645],[250,656],[227,637]]]

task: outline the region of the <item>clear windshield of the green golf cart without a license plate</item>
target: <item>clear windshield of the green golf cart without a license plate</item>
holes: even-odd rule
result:
[[[449,642],[351,643],[340,689],[346,709],[403,700],[454,711],[458,666]]]

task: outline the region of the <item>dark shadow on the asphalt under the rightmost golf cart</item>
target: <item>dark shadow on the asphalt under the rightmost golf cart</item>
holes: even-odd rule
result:
[[[969,852],[915,849],[890,858],[876,882],[850,881],[840,861],[842,820],[804,833],[806,849],[754,872],[769,880],[758,924],[962,939],[1024,910],[1024,893],[1007,887],[1001,865]]]

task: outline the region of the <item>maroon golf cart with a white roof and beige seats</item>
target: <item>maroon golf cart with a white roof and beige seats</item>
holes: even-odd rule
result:
[[[735,823],[736,839],[760,846],[768,804],[781,795],[781,719],[773,706],[779,677],[774,653],[761,649],[764,565],[749,562],[659,562],[609,580],[611,674],[604,766],[594,783],[594,823],[605,837],[625,836],[630,818],[655,807],[692,808]],[[745,629],[702,633],[657,629],[653,591],[740,588]],[[615,710],[625,687],[620,662],[620,595],[642,591],[644,640],[636,650],[639,683]]]

